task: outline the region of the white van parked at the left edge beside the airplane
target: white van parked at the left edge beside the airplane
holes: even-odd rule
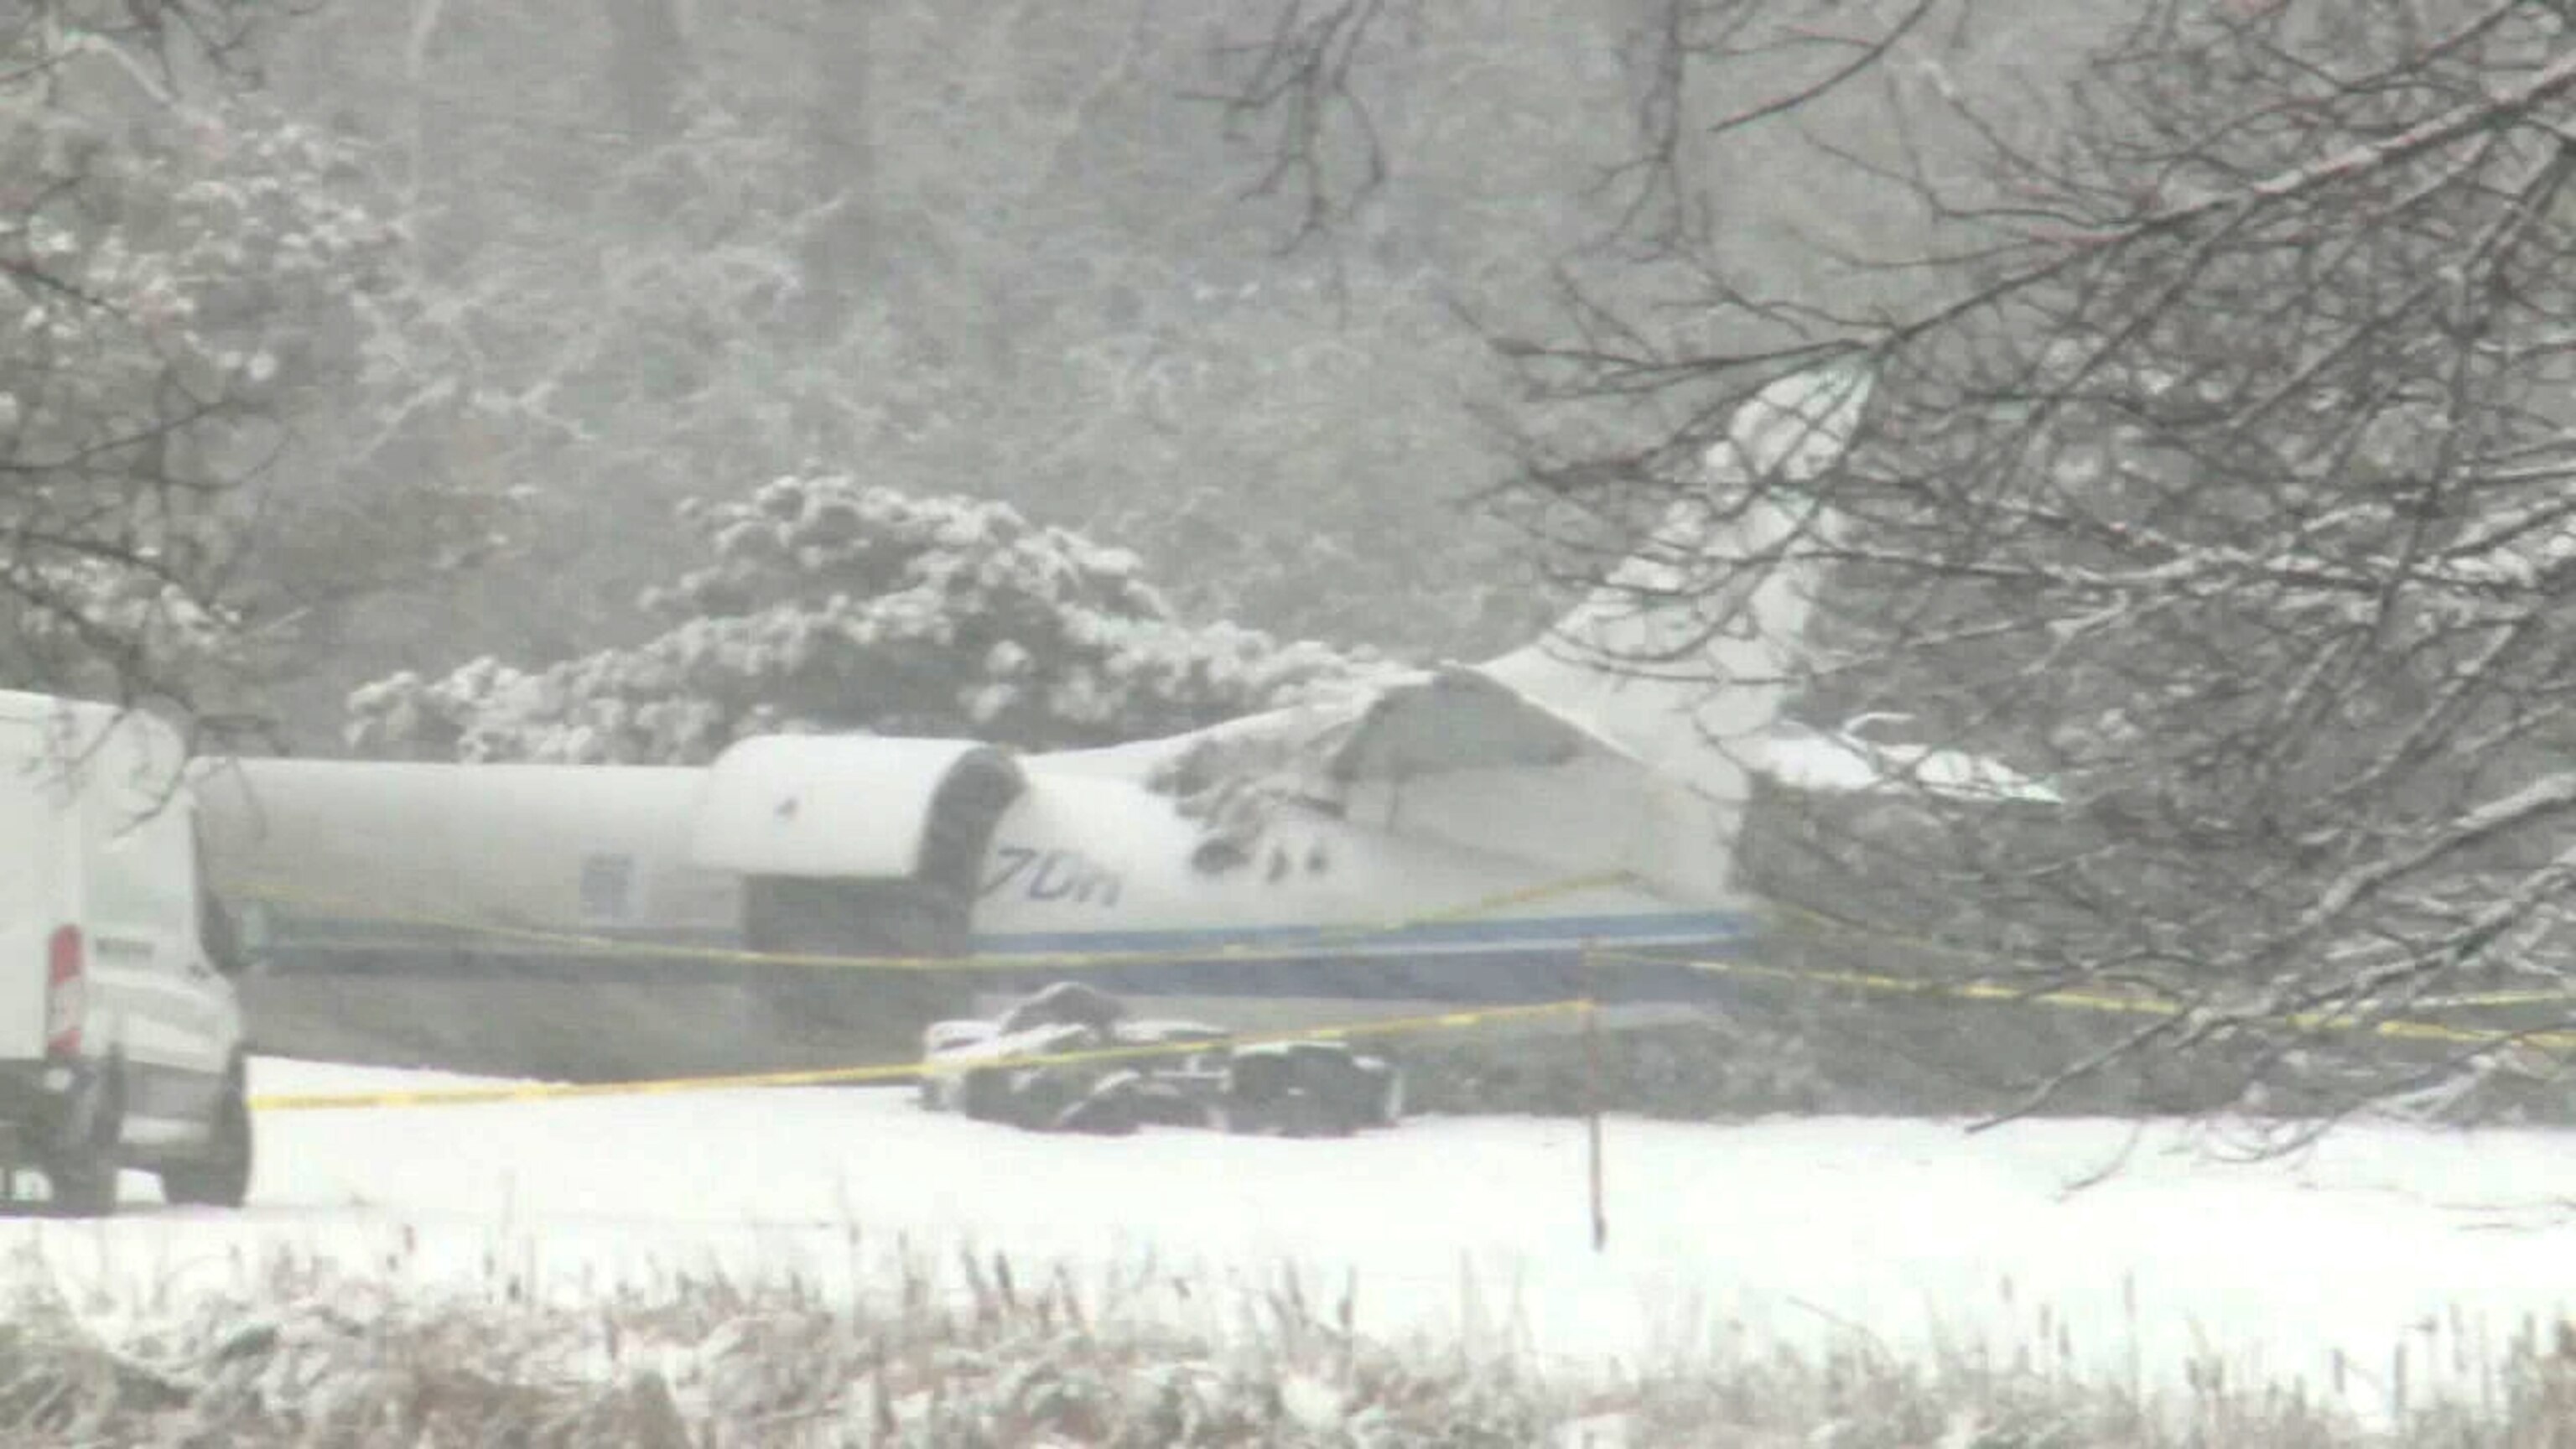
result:
[[[242,1008],[206,895],[185,748],[160,719],[0,691],[0,1186],[64,1214],[116,1173],[170,1201],[250,1189]],[[36,1168],[26,1173],[23,1168]]]

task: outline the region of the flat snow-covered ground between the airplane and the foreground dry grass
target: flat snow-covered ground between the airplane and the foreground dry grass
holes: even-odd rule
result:
[[[255,1091],[438,1078],[263,1060]],[[2079,1186],[2102,1168],[2120,1171]],[[1224,1328],[1288,1276],[1358,1284],[1381,1338],[1654,1364],[1728,1336],[1986,1346],[2117,1385],[2192,1356],[2372,1408],[2494,1361],[2576,1299],[2576,1134],[2354,1124],[2231,1163],[2177,1127],[1772,1119],[1607,1127],[1592,1250],[1579,1122],[1419,1119],[1337,1142],[1036,1137],[899,1091],[734,1091],[260,1119],[252,1204],[8,1222],[75,1302],[227,1292],[286,1256],[556,1299],[680,1274],[822,1289],[1007,1253],[1087,1299]],[[90,1294],[88,1289],[106,1289]],[[2066,1325],[2063,1341],[2058,1328]]]

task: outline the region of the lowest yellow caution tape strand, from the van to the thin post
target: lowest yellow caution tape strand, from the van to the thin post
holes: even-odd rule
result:
[[[1468,1026],[1494,1026],[1502,1021],[1538,1021],[1592,1011],[1592,1000],[1546,1000],[1535,1006],[1492,1006],[1479,1011],[1443,1011],[1435,1016],[1394,1016],[1378,1021],[1342,1021],[1334,1026],[1298,1026],[1280,1031],[1242,1031],[1206,1042],[1146,1042],[1133,1047],[1084,1047],[1079,1052],[1036,1052],[1023,1057],[969,1057],[881,1062],[868,1067],[809,1067],[793,1073],[737,1073],[714,1078],[657,1078],[639,1083],[507,1083],[477,1088],[412,1088],[412,1091],[337,1091],[337,1093],[265,1093],[250,1098],[252,1111],[345,1111],[366,1106],[477,1106],[497,1101],[562,1101],[582,1096],[665,1096],[698,1091],[793,1088],[793,1085],[850,1085],[894,1083],[922,1075],[966,1075],[1015,1067],[1072,1067],[1097,1062],[1136,1062],[1149,1057],[1185,1057],[1193,1052],[1226,1052],[1236,1047],[1267,1047],[1280,1042],[1350,1042],[1368,1036],[1412,1036],[1425,1031],[1461,1031]]]

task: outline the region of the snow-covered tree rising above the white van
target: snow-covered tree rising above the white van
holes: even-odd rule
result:
[[[268,13],[52,0],[0,21],[8,683],[227,706],[276,642],[263,549],[312,547],[299,523],[332,516],[273,485],[317,397],[363,384],[399,235],[363,147],[229,70]],[[417,518],[422,495],[371,511]]]

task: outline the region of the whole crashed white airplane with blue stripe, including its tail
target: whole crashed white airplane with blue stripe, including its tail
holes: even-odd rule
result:
[[[1777,384],[1710,464],[1808,477],[1862,392]],[[1543,1000],[1577,990],[1587,946],[1749,946],[1734,843],[1754,773],[2045,797],[1989,761],[1780,724],[1803,570],[1687,585],[1824,521],[1765,503],[1685,523],[1538,645],[1167,740],[770,735],[708,768],[227,761],[201,802],[265,962],[252,1031],[644,1075],[902,1057],[966,990],[1074,969],[1123,993]],[[845,957],[976,967],[822,962]]]

